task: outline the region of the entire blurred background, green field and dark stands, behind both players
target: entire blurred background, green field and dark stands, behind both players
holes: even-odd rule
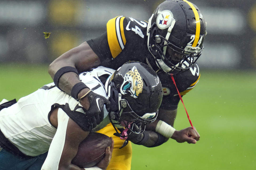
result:
[[[52,82],[47,66],[105,31],[118,15],[148,20],[159,0],[0,1],[0,100]],[[196,145],[169,140],[133,145],[132,169],[256,169],[256,1],[190,0],[207,22],[201,79],[184,96],[201,135]],[[45,39],[43,32],[50,32]],[[176,129],[188,127],[179,104]]]

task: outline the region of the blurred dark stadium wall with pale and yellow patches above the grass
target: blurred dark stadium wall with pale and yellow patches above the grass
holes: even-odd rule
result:
[[[44,0],[0,2],[0,62],[50,63],[67,50],[105,32],[118,15],[148,20],[162,1]],[[207,69],[255,69],[255,0],[192,0],[207,22]],[[43,32],[51,32],[48,39]]]

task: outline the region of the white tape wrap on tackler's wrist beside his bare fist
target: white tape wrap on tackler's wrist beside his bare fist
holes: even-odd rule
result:
[[[166,138],[170,138],[173,135],[175,129],[164,121],[159,120],[155,131],[165,136]]]

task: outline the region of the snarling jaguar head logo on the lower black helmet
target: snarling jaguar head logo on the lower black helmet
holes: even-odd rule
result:
[[[125,95],[130,93],[135,99],[142,92],[143,81],[137,68],[134,66],[130,71],[125,74],[124,81],[121,85],[120,92]]]

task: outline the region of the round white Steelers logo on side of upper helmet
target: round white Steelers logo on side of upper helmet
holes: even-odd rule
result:
[[[173,22],[173,13],[169,10],[164,10],[160,12],[157,16],[157,27],[160,29],[166,29],[170,27],[171,23]]]

